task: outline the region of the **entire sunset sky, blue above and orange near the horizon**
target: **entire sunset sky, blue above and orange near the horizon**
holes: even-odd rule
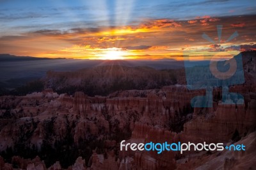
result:
[[[256,49],[255,19],[254,0],[0,0],[0,54],[177,60],[185,54],[193,59],[218,54],[227,58]],[[218,25],[222,26],[220,40]]]

